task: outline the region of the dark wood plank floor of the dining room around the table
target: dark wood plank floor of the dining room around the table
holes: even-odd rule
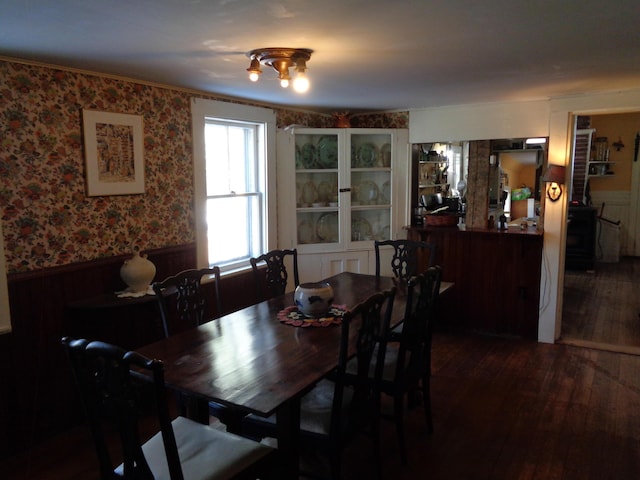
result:
[[[434,339],[435,432],[407,417],[409,465],[383,424],[383,479],[640,478],[640,356],[497,337]],[[345,478],[373,476],[366,441],[345,455]],[[0,463],[15,480],[97,479],[82,428]]]

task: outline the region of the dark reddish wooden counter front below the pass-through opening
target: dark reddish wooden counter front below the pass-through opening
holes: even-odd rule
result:
[[[435,263],[455,288],[443,298],[445,327],[538,339],[543,234],[521,230],[407,227],[436,245]]]

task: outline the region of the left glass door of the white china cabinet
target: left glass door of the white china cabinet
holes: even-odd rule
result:
[[[339,137],[295,134],[297,243],[342,242],[339,221]]]

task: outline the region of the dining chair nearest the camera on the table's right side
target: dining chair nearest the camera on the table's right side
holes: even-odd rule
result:
[[[338,480],[345,444],[356,434],[370,437],[373,458],[379,462],[380,391],[375,385],[382,375],[382,358],[375,355],[380,330],[389,321],[396,288],[378,292],[342,319],[337,367],[318,382],[300,402],[300,446],[304,451],[321,451],[328,455],[331,478]],[[384,318],[383,318],[384,317]],[[331,328],[331,327],[327,327]],[[357,329],[352,336],[351,330]],[[347,376],[346,367],[354,352],[357,375]],[[375,366],[374,366],[375,365]],[[369,370],[376,373],[370,378]],[[243,421],[243,434],[251,438],[275,437],[275,415],[263,418],[248,415]],[[380,471],[379,465],[376,471]],[[316,478],[318,472],[303,472]]]

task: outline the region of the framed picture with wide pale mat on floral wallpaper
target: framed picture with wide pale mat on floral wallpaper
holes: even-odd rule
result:
[[[87,195],[144,193],[142,116],[83,110]]]

